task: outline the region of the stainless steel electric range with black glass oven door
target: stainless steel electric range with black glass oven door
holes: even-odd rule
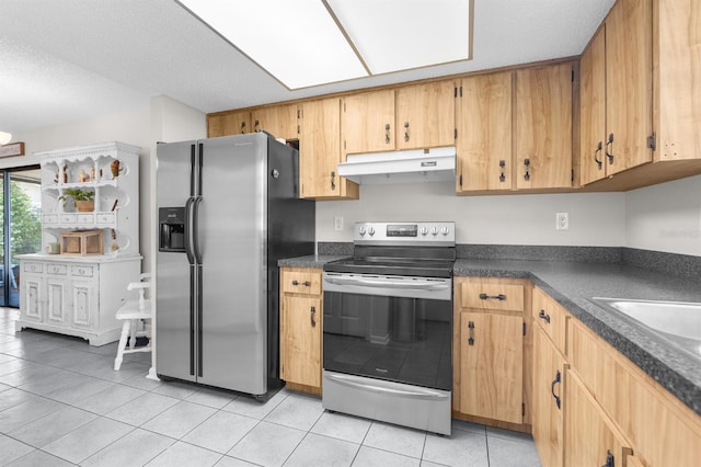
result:
[[[325,409],[450,434],[455,223],[358,223],[324,265]]]

